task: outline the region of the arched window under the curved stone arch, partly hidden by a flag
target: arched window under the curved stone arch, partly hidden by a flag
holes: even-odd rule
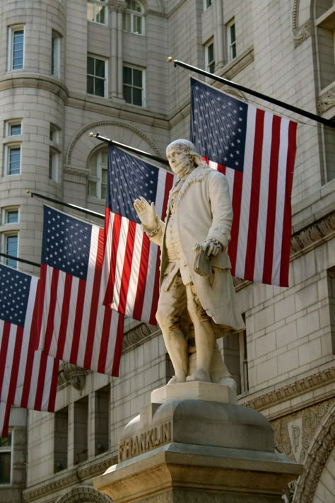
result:
[[[106,199],[107,189],[107,149],[100,149],[88,160],[88,195],[97,199]]]

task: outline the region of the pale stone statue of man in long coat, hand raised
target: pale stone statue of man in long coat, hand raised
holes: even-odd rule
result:
[[[134,209],[162,250],[156,319],[175,369],[168,384],[205,381],[233,387],[216,345],[216,338],[244,328],[226,253],[233,220],[228,182],[202,161],[191,141],[172,141],[166,156],[178,180],[165,222],[143,197]]]

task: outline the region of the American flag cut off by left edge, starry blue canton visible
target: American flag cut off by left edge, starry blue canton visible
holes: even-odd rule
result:
[[[0,400],[52,412],[59,361],[35,351],[38,286],[36,277],[0,265]]]

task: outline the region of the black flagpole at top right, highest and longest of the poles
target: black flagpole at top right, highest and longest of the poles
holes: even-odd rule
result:
[[[254,91],[253,89],[249,89],[245,86],[240,86],[240,84],[237,84],[233,81],[230,81],[228,79],[224,79],[223,77],[219,77],[218,75],[211,74],[209,71],[201,70],[200,68],[193,67],[191,64],[184,63],[182,61],[179,61],[178,59],[172,59],[172,57],[167,58],[167,62],[173,62],[175,64],[175,67],[183,67],[191,71],[195,71],[197,74],[204,75],[208,77],[209,79],[213,79],[215,81],[221,82],[226,84],[227,86],[233,87],[235,89],[238,89],[239,91],[242,91],[244,93],[249,93],[252,96],[256,96],[257,98],[261,98],[262,100],[269,101],[269,103],[274,103],[274,105],[279,105],[283,108],[286,108],[287,110],[290,110],[291,112],[298,113],[300,115],[303,115],[304,117],[307,117],[308,119],[315,120],[316,122],[320,122],[324,126],[329,126],[335,128],[335,122],[325,119],[324,117],[320,117],[319,115],[315,115],[314,113],[307,112],[306,110],[302,110],[301,108],[295,107],[293,105],[289,105],[288,103],[285,103],[281,100],[276,100],[276,98],[271,98],[271,96],[266,96],[263,93],[259,93],[258,91]]]

